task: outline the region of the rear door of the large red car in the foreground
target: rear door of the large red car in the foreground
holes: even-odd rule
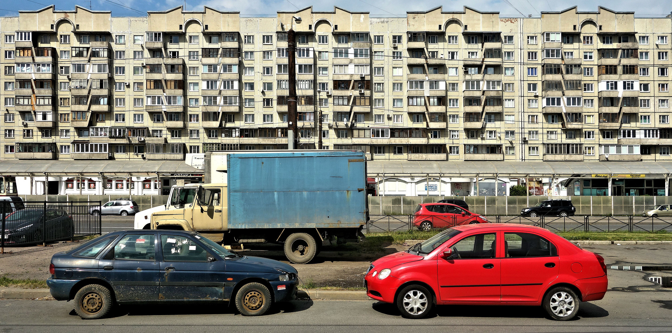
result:
[[[528,232],[504,233],[502,301],[538,301],[558,277],[560,259],[553,243]]]

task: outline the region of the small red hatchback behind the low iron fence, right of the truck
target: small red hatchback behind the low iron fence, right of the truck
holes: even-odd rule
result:
[[[488,223],[488,220],[451,203],[421,203],[413,211],[413,226],[423,231],[477,223]]]

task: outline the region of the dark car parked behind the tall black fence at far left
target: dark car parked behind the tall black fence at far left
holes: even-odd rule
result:
[[[24,208],[5,217],[5,244],[30,244],[72,238],[73,218],[62,209]]]

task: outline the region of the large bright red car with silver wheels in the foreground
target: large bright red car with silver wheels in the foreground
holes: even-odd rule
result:
[[[456,226],[405,252],[374,261],[364,278],[372,299],[405,318],[434,305],[542,305],[570,320],[581,301],[607,291],[604,259],[546,229],[520,224]]]

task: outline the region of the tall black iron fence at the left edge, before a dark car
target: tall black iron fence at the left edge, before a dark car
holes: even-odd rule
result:
[[[0,201],[0,246],[71,240],[101,234],[101,201]]]

